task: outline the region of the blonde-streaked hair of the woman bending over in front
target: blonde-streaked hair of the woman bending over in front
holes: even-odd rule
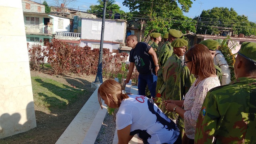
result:
[[[112,101],[117,108],[120,107],[122,100],[129,98],[127,94],[123,94],[124,88],[115,80],[109,79],[103,82],[98,89],[98,101],[102,109],[101,98],[106,97],[109,101]]]

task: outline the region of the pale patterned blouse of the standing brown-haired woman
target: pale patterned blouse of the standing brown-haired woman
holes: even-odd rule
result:
[[[196,120],[201,110],[202,104],[206,93],[216,86],[220,86],[220,80],[218,77],[205,78],[195,86],[198,79],[192,84],[188,92],[186,93],[184,100],[184,126],[186,136],[190,139],[195,139],[196,132]]]

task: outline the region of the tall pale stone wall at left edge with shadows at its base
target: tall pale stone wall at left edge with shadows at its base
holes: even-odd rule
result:
[[[36,127],[21,0],[0,1],[0,138]]]

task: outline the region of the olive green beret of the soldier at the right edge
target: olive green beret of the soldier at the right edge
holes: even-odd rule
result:
[[[255,42],[243,42],[238,54],[256,63],[256,43]]]

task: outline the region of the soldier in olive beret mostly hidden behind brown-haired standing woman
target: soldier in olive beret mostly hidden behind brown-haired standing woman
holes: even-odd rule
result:
[[[208,39],[208,40],[203,40],[199,44],[203,44],[209,49],[209,51],[212,55],[212,59],[213,59],[216,54],[216,50],[218,49],[219,42],[216,40]],[[222,83],[222,70],[219,66],[216,66],[215,64],[214,64],[214,67],[216,70],[216,75],[218,76],[218,78],[220,80],[220,84],[221,84]]]

